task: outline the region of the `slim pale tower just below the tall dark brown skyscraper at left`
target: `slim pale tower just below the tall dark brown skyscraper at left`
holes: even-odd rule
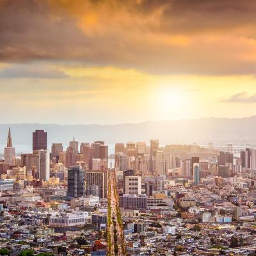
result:
[[[36,150],[39,156],[39,179],[49,181],[50,178],[50,152],[48,150]]]

